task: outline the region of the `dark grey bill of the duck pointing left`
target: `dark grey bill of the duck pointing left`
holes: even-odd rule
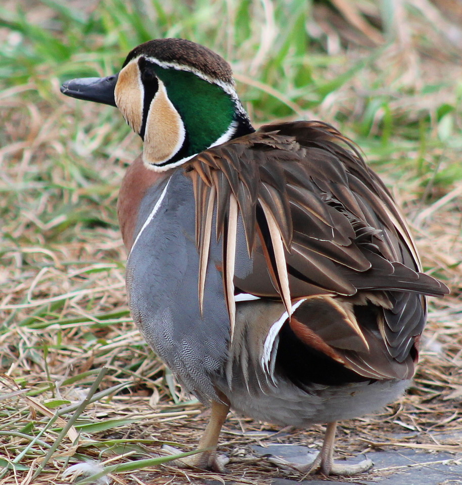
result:
[[[61,92],[78,100],[94,101],[115,106],[114,89],[118,74],[108,77],[81,77],[71,79],[61,86]]]

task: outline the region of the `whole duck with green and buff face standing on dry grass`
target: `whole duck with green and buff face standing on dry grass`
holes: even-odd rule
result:
[[[322,121],[255,129],[218,54],[179,38],[136,46],[121,70],[61,91],[118,108],[143,140],[118,219],[133,321],[186,389],[211,408],[184,463],[222,471],[230,409],[306,428],[326,424],[305,472],[334,461],[339,421],[409,386],[427,296],[404,217],[359,149]]]

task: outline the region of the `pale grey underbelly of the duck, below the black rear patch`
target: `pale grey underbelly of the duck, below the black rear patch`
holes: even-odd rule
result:
[[[250,394],[236,387],[225,394],[238,413],[260,421],[304,427],[356,418],[380,410],[404,393],[409,380],[355,382],[339,386],[313,385],[309,392],[290,382]],[[224,391],[224,390],[223,390]]]

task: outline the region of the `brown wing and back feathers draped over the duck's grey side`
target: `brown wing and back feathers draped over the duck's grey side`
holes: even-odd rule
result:
[[[194,184],[201,261],[208,257],[204,238],[210,237],[210,205],[216,200],[232,328],[235,283],[256,296],[279,297],[289,314],[291,299],[330,295],[359,308],[354,314],[360,318],[348,321],[355,322],[369,351],[339,350],[335,332],[331,337],[324,332],[322,345],[363,376],[409,375],[411,349],[425,322],[425,298],[415,299],[415,294],[441,296],[448,290],[419,272],[403,217],[350,140],[318,121],[266,125],[199,154],[186,173]],[[233,280],[230,253],[236,241],[230,239],[236,238],[237,212],[253,272]],[[202,282],[205,268],[202,263]],[[345,318],[340,321],[347,324]],[[319,328],[303,331],[308,338]]]

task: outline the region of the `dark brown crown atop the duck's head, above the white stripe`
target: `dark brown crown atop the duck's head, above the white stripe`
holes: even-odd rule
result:
[[[203,45],[186,39],[155,39],[135,47],[128,54],[122,67],[138,56],[146,56],[161,62],[189,66],[205,75],[233,84],[233,72],[229,64],[218,54]]]

